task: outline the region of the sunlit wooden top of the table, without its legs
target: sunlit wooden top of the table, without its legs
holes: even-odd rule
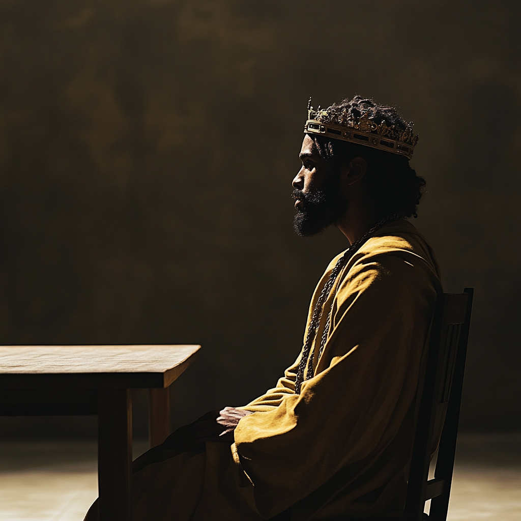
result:
[[[200,345],[4,345],[0,387],[168,387]]]

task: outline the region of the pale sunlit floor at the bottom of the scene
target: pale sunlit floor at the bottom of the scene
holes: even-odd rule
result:
[[[96,495],[94,443],[0,442],[1,521],[81,521]],[[448,519],[521,519],[520,435],[460,438]]]

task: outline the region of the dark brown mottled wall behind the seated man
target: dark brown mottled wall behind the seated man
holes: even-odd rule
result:
[[[476,288],[463,427],[518,428],[519,6],[3,2],[1,342],[201,343],[175,425],[271,387],[346,247],[292,231],[307,98],[360,93],[415,121],[415,225]]]

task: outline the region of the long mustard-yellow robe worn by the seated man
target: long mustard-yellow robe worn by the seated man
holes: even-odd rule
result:
[[[318,295],[336,263],[318,283]],[[436,294],[432,250],[408,221],[383,226],[338,277],[314,377],[295,364],[245,408],[235,443],[207,443],[134,475],[135,521],[390,517],[403,508],[415,396]],[[309,320],[309,319],[308,319]],[[318,343],[318,342],[317,342]],[[313,346],[312,349],[315,349]]]

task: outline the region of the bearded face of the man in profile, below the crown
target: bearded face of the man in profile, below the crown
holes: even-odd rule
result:
[[[302,142],[300,159],[302,168],[293,179],[293,227],[302,237],[311,237],[336,224],[345,214],[347,204],[340,188],[340,168],[331,167],[320,157],[308,134]]]

